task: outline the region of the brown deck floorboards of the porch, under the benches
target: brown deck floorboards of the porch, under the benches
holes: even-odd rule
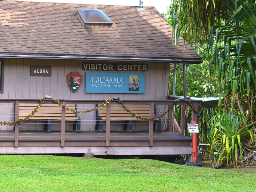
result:
[[[60,131],[21,131],[19,141],[60,141]],[[105,132],[99,131],[66,131],[65,141],[105,141]],[[148,141],[148,131],[110,131],[110,141]],[[174,132],[154,131],[154,141],[192,141],[191,137]],[[14,131],[0,131],[0,141],[14,141]]]

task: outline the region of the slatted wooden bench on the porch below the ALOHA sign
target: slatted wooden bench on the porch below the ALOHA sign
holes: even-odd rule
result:
[[[37,105],[38,104],[36,103],[20,103],[19,119],[27,117]],[[76,105],[68,105],[68,108],[76,110]],[[61,110],[62,108],[56,103],[44,103],[44,105],[40,107],[35,115],[29,120],[44,120],[44,130],[47,130],[49,133],[51,131],[51,120],[61,120]],[[77,128],[77,132],[80,133],[81,120],[80,117],[77,117],[76,113],[66,111],[65,120],[73,120],[73,130],[76,130]]]

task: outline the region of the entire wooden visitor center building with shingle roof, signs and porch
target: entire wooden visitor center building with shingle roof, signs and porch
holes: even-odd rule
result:
[[[170,66],[202,61],[180,42],[154,7],[1,0],[0,154],[191,154]]]

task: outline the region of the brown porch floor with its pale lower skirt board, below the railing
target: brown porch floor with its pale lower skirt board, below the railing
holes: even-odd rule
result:
[[[148,131],[111,131],[106,147],[106,132],[65,132],[65,147],[61,147],[59,131],[22,131],[19,147],[14,146],[14,131],[0,132],[1,154],[93,153],[94,155],[175,155],[192,152],[192,138],[174,132],[154,131],[149,147]],[[63,144],[63,143],[62,143]],[[88,150],[89,149],[89,150]]]

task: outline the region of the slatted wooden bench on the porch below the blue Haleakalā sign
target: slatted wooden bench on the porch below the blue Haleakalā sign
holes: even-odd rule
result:
[[[98,107],[98,105],[96,105]],[[126,107],[133,113],[136,113],[138,116],[150,117],[150,105],[126,105]],[[102,124],[103,120],[106,120],[107,108],[103,107],[100,110],[96,111],[96,125],[95,130],[99,130],[102,133]],[[156,116],[156,106],[154,106],[154,116]],[[124,108],[119,104],[111,104],[110,107],[110,120],[124,120],[124,130],[127,130],[129,127],[129,133],[132,133],[132,120],[138,120],[135,117],[132,117],[127,113]],[[154,130],[157,123],[157,132],[161,133],[161,120],[154,121]]]

